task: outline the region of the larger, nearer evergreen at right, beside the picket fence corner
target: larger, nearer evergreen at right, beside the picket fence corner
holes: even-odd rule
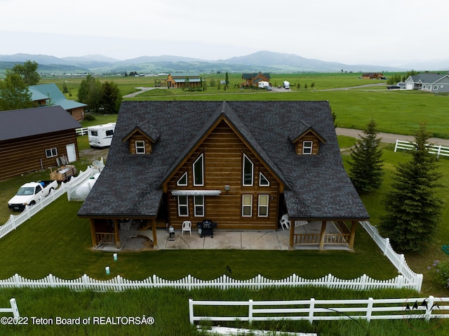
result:
[[[443,201],[436,196],[441,187],[435,154],[429,153],[429,134],[422,123],[415,135],[412,160],[396,167],[393,188],[384,200],[387,215],[382,228],[391,245],[399,250],[419,251],[438,227]]]

